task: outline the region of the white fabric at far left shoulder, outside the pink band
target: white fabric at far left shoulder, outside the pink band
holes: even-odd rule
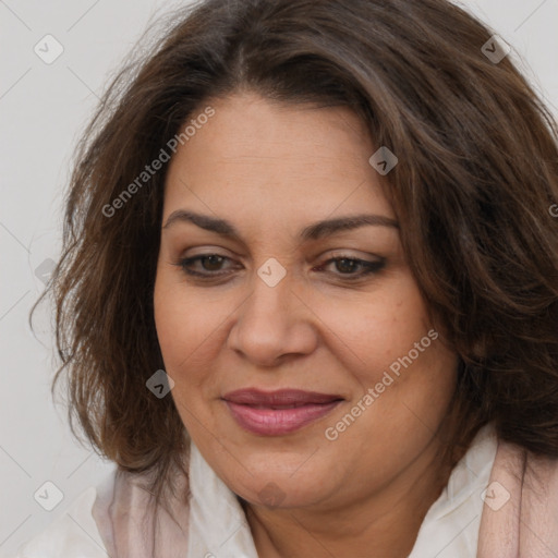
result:
[[[109,480],[110,482],[110,480]],[[107,558],[107,551],[93,517],[97,487],[83,492],[62,515],[23,545],[15,558]]]

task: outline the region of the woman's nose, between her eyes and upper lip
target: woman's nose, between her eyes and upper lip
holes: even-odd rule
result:
[[[311,354],[318,343],[315,315],[293,290],[289,274],[275,287],[259,277],[254,283],[252,294],[238,308],[228,347],[262,367]]]

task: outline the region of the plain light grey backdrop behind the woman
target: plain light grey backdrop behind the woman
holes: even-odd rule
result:
[[[558,116],[558,0],[462,5],[512,46]],[[60,254],[63,193],[80,133],[109,76],[170,8],[162,0],[0,0],[0,557],[112,471],[73,439],[65,409],[52,402],[48,308],[37,314],[36,337],[27,317]],[[47,63],[57,49],[62,53]]]

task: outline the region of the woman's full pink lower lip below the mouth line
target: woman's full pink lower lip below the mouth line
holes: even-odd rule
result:
[[[281,436],[322,418],[341,401],[308,403],[292,409],[257,409],[231,401],[226,401],[226,403],[242,428],[260,436]]]

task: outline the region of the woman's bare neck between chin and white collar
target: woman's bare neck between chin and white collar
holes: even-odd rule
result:
[[[244,501],[258,556],[409,556],[450,474],[447,464],[436,464],[439,445],[434,440],[430,445],[388,485],[357,500],[337,498],[327,505],[284,509]]]

